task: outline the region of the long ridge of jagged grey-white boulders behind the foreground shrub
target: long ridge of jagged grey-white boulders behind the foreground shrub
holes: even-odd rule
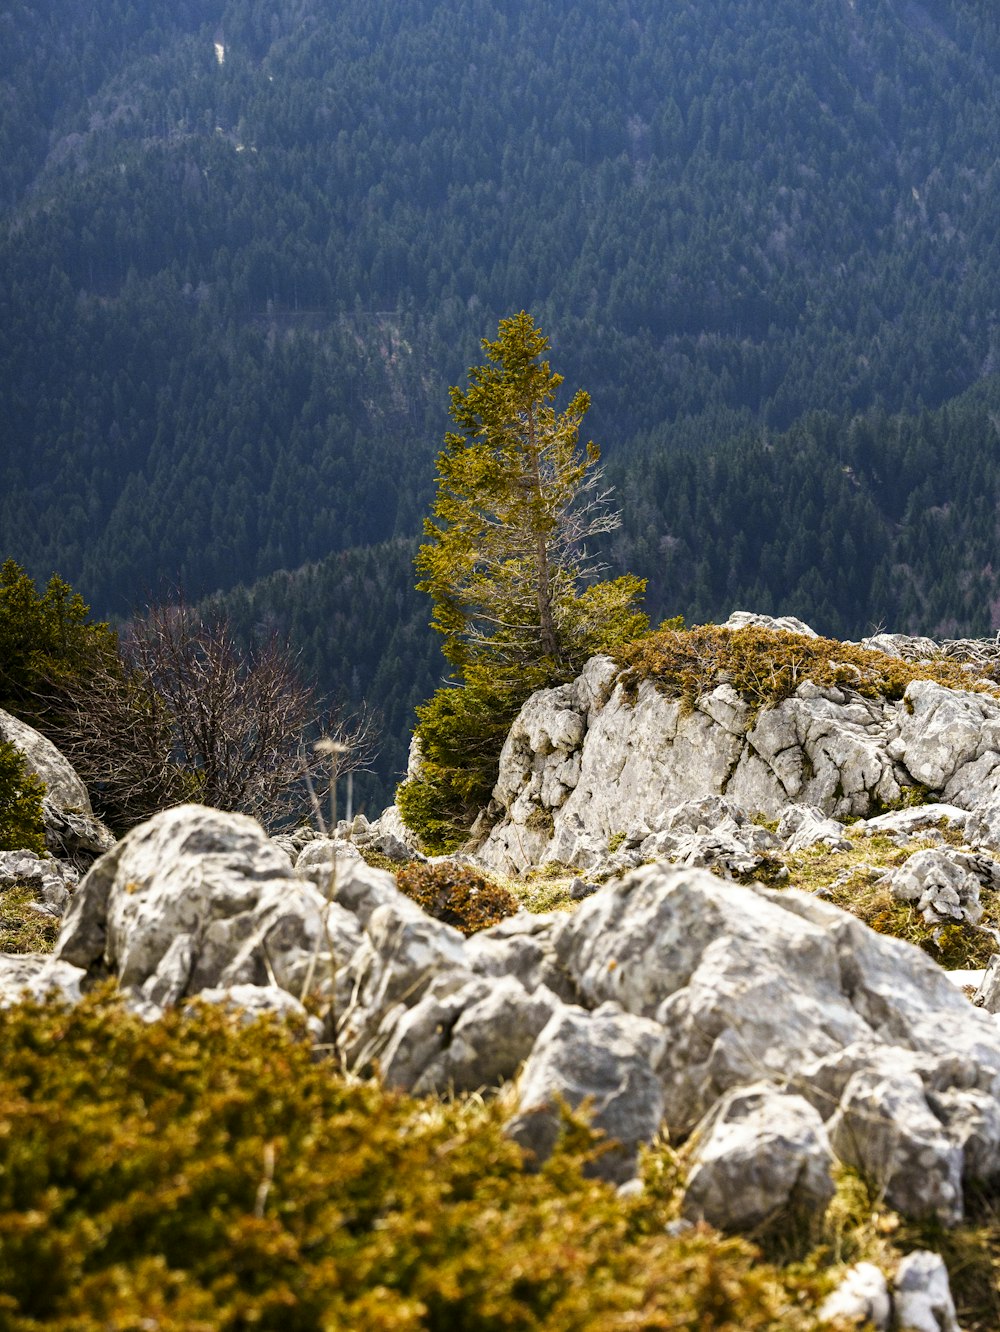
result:
[[[325,1043],[394,1086],[521,1070],[509,1131],[538,1158],[563,1106],[587,1107],[617,1183],[658,1134],[691,1138],[684,1211],[724,1228],[822,1211],[838,1160],[945,1223],[999,1169],[996,1020],[815,896],[650,864],[466,940],[337,842],[294,858],[240,815],[157,815],[83,880],[55,958],[7,967],[8,994],[112,975],[150,1019],[200,998],[305,1022],[313,992]]]

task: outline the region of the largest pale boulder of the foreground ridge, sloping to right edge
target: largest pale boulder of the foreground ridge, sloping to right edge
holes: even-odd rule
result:
[[[911,1215],[952,1223],[963,1180],[992,1176],[1000,1032],[920,950],[795,890],[646,866],[563,918],[554,952],[583,1006],[663,1028],[671,1136],[782,1082]]]

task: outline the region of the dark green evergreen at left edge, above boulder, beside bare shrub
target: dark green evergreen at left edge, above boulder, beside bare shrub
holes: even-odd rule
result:
[[[57,574],[39,594],[15,563],[0,566],[0,707],[45,727],[67,687],[115,651],[115,634]]]

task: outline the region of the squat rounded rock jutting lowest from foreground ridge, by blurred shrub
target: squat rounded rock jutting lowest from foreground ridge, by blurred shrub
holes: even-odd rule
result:
[[[788,1209],[820,1215],[834,1196],[834,1152],[819,1114],[768,1083],[727,1092],[695,1130],[683,1212],[751,1229]]]

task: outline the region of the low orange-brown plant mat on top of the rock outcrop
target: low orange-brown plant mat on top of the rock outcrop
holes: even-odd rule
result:
[[[1000,697],[991,681],[955,661],[908,662],[832,638],[807,638],[762,625],[658,629],[622,647],[617,657],[632,697],[650,679],[688,709],[700,694],[722,683],[731,685],[755,707],[780,702],[806,681],[855,690],[866,698],[899,699],[915,679]]]

